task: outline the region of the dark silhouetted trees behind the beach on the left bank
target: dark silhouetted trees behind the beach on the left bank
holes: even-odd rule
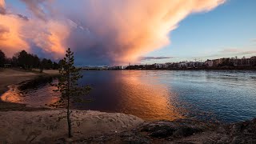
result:
[[[0,67],[9,64],[12,67],[21,67],[24,70],[58,70],[59,63],[46,58],[38,58],[37,54],[27,53],[26,50],[21,50],[14,54],[12,58],[7,58],[6,54],[0,50]]]

